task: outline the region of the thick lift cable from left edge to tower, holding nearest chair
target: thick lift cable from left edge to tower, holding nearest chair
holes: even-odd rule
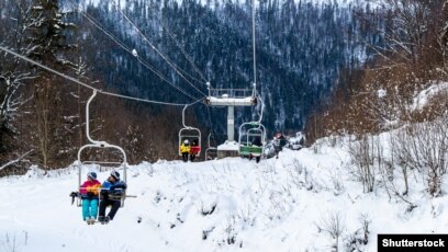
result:
[[[102,91],[102,90],[97,89],[97,88],[94,88],[94,87],[92,87],[92,85],[89,85],[89,84],[87,84],[87,83],[83,83],[82,81],[80,81],[80,80],[78,80],[78,79],[76,79],[76,78],[72,78],[72,77],[70,77],[70,76],[64,75],[64,73],[61,73],[61,72],[59,72],[59,71],[56,71],[56,70],[54,70],[54,69],[52,69],[52,68],[49,68],[49,67],[47,67],[47,66],[45,66],[45,65],[42,65],[42,64],[40,64],[40,62],[37,62],[37,61],[35,61],[35,60],[33,60],[33,59],[26,57],[26,56],[20,55],[20,54],[15,53],[15,51],[13,51],[13,50],[11,50],[11,49],[8,49],[8,48],[5,48],[5,47],[3,47],[3,46],[1,46],[1,45],[0,45],[0,50],[3,50],[3,51],[5,51],[5,53],[8,53],[8,54],[11,54],[11,55],[13,55],[13,56],[15,56],[15,57],[18,57],[18,58],[21,58],[21,59],[23,59],[23,60],[25,60],[25,61],[27,61],[27,62],[30,62],[30,64],[32,64],[32,65],[34,65],[34,66],[37,66],[37,67],[40,67],[40,68],[43,68],[43,69],[45,69],[45,70],[47,70],[47,71],[49,71],[49,72],[53,72],[53,73],[55,73],[55,75],[57,75],[57,76],[59,76],[59,77],[61,77],[61,78],[64,78],[64,79],[67,79],[67,80],[69,80],[69,81],[72,81],[72,82],[75,82],[75,83],[77,83],[77,84],[79,84],[79,85],[82,85],[82,87],[85,87],[85,88],[88,88],[88,89],[90,89],[90,90],[94,90],[94,91],[97,91],[97,92],[99,92],[99,93],[102,93],[102,94],[105,94],[105,95],[110,95],[110,96],[116,96],[116,98],[123,98],[123,99],[134,100],[134,101],[138,101],[138,102],[146,102],[146,103],[160,104],[160,105],[169,105],[169,106],[186,106],[186,105],[189,105],[189,106],[190,106],[190,105],[193,105],[193,104],[195,104],[195,103],[199,103],[200,101],[203,101],[203,99],[204,99],[204,98],[201,98],[201,99],[199,99],[199,100],[197,100],[197,101],[194,101],[194,102],[192,102],[192,103],[188,103],[188,104],[186,104],[186,103],[170,103],[170,102],[161,102],[161,101],[154,101],[154,100],[147,100],[147,99],[139,99],[139,98],[134,98],[134,96],[128,96],[128,95],[112,93],[112,92],[108,92],[108,91]]]

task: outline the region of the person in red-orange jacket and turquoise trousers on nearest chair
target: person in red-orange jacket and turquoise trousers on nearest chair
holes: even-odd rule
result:
[[[97,219],[100,187],[101,183],[97,180],[97,173],[89,172],[87,181],[79,188],[82,199],[82,219],[88,225],[94,224]]]

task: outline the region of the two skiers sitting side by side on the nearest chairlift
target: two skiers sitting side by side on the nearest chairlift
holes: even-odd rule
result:
[[[109,224],[121,206],[121,198],[126,187],[126,183],[120,180],[120,173],[116,171],[112,171],[102,185],[97,180],[97,173],[89,172],[87,181],[79,188],[79,196],[82,199],[82,219],[88,225],[93,225],[98,215],[99,222]],[[111,210],[105,215],[108,206],[111,206]]]

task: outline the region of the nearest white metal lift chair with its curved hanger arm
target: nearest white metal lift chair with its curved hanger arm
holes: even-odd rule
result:
[[[78,188],[80,190],[82,184],[82,168],[85,164],[97,164],[101,167],[112,167],[114,170],[123,169],[123,181],[127,183],[127,158],[126,153],[124,152],[123,148],[120,146],[111,145],[105,141],[97,141],[90,137],[90,121],[89,121],[89,108],[90,103],[92,102],[93,98],[97,95],[97,90],[93,90],[93,94],[90,96],[89,101],[86,104],[86,135],[90,144],[82,146],[78,151],[78,160],[76,161],[76,165],[78,167]],[[119,150],[119,152],[123,156],[122,162],[116,161],[98,161],[98,160],[82,160],[81,154],[82,151],[86,149],[111,149],[111,150]],[[79,192],[79,191],[78,191]],[[123,192],[123,196],[121,197],[121,207],[124,206],[124,199],[126,198],[126,191]],[[80,197],[77,199],[77,205],[81,206]]]

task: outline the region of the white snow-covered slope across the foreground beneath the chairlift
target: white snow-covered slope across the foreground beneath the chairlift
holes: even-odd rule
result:
[[[424,183],[413,183],[408,198],[417,207],[407,211],[381,186],[365,194],[338,142],[317,151],[283,150],[258,164],[227,158],[131,167],[128,194],[137,197],[104,226],[88,226],[70,205],[78,184],[74,168],[3,177],[0,251],[328,251],[335,241],[325,222],[338,215],[341,251],[362,237],[362,220],[370,225],[361,251],[377,251],[378,233],[448,232],[446,196],[432,198]]]

